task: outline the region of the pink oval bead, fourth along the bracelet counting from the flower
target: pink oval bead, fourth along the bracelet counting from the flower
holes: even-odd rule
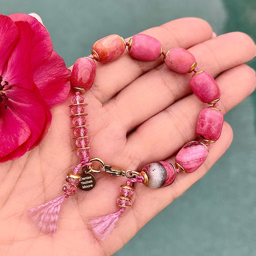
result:
[[[188,73],[189,69],[196,62],[196,58],[189,51],[176,47],[169,51],[164,63],[165,65],[180,74]]]

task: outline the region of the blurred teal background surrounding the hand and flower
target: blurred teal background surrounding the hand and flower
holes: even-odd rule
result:
[[[67,66],[90,54],[94,41],[103,36],[128,37],[185,16],[206,19],[217,34],[240,30],[256,39],[254,0],[0,0],[0,4],[2,14],[38,13]],[[249,65],[256,69],[255,60]],[[234,133],[225,155],[115,256],[256,255],[255,109],[254,92],[225,115]]]

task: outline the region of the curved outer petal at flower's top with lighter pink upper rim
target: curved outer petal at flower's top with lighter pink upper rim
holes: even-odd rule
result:
[[[31,65],[32,68],[41,65],[46,59],[48,59],[53,51],[52,41],[49,32],[46,27],[42,25],[38,20],[28,14],[14,13],[10,14],[9,17],[17,22],[23,20],[28,22],[32,30],[35,32],[35,40],[31,53]]]

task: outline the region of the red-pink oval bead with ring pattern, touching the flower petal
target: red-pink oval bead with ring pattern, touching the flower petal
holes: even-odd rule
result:
[[[76,60],[70,82],[73,87],[89,90],[96,75],[95,61],[90,58],[79,58]]]

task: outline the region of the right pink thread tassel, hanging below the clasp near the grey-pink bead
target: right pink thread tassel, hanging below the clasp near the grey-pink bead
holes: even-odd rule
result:
[[[90,221],[90,225],[95,236],[101,241],[105,240],[118,221],[119,215],[122,214],[124,210],[125,208],[121,208],[119,211],[115,212],[115,214],[109,214],[99,219]]]

